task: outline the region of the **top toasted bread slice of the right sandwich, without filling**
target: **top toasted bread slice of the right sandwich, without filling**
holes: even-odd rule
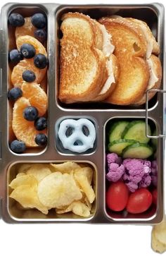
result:
[[[101,18],[112,35],[114,54],[120,65],[118,83],[106,102],[118,105],[134,104],[146,90],[149,70],[146,63],[146,39],[141,29],[123,18]]]

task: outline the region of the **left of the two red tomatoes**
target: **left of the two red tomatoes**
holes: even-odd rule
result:
[[[112,183],[106,193],[106,204],[109,209],[120,212],[125,209],[129,199],[129,190],[122,181]]]

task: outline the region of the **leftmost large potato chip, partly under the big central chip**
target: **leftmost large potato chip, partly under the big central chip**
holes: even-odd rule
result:
[[[37,196],[37,185],[20,185],[13,190],[10,197],[25,208],[36,208],[42,213],[48,214],[48,207],[42,205]]]

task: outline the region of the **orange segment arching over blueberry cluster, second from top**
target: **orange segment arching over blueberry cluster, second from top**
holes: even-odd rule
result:
[[[46,49],[44,48],[43,44],[41,44],[41,42],[39,42],[39,40],[37,40],[36,38],[31,37],[30,35],[23,35],[21,37],[18,37],[16,39],[16,45],[19,51],[20,47],[23,44],[32,44],[32,46],[36,50],[36,54],[44,54],[45,56],[47,56]]]

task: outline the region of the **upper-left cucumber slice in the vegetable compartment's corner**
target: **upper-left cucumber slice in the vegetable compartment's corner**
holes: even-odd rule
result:
[[[122,132],[125,130],[126,126],[129,124],[127,121],[117,121],[110,127],[109,131],[109,142],[114,140],[120,140]]]

